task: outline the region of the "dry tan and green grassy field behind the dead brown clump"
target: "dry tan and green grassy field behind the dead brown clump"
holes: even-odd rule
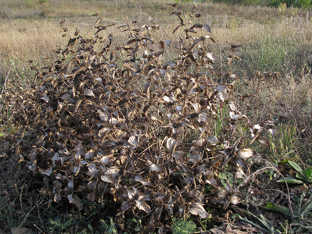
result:
[[[175,16],[170,15],[173,10],[166,3],[168,1],[165,0],[0,0],[1,90],[7,83],[13,86],[29,85],[35,73],[29,67],[28,61],[32,60],[32,66],[37,67],[55,61],[58,57],[51,50],[66,45],[76,27],[80,29],[81,35],[93,37],[96,18],[90,15],[95,13],[98,13],[104,24],[116,23],[114,27],[122,24],[125,16],[130,22],[136,20],[140,25],[148,22],[148,17],[151,16],[162,26],[158,38],[174,41],[177,34],[183,30],[172,34],[173,28],[179,22]],[[278,140],[271,145],[271,149],[256,145],[257,152],[268,155],[277,163],[291,159],[311,165],[312,12],[309,9],[282,6],[272,8],[209,1],[197,4],[203,15],[202,21],[211,27],[212,37],[217,40],[217,43],[210,44],[209,48],[218,57],[215,69],[221,69],[222,63],[226,62],[229,52],[227,42],[244,46],[236,51],[236,55],[243,60],[233,66],[233,73],[238,75],[240,84],[248,84],[246,93],[259,97],[258,111],[252,116],[253,120],[256,122],[264,116],[275,120]],[[182,1],[180,8],[183,12],[193,10],[188,1]],[[188,16],[186,18],[190,19]],[[61,37],[64,32],[60,32],[63,26],[59,23],[63,19],[68,26],[66,37]],[[114,34],[115,39],[126,41],[126,33],[114,27],[110,28],[110,32]],[[261,80],[256,76],[257,71],[274,72],[277,75],[270,81]],[[3,100],[4,95],[0,101]],[[1,112],[9,117],[12,114],[11,110],[3,103],[0,102]],[[1,122],[1,136],[14,131],[14,124],[9,121]],[[14,186],[14,182],[9,182],[5,176],[1,180],[3,190],[0,195],[4,196]],[[0,203],[0,211],[10,207],[6,202],[3,199]],[[42,201],[38,202],[38,207],[40,202]],[[63,230],[62,227],[65,230],[71,225],[70,222],[78,220],[74,214],[69,215],[71,217],[56,215],[59,223],[55,221],[56,216],[53,216],[51,220],[45,221],[46,225],[51,225],[54,231]],[[84,222],[87,223],[87,220]],[[21,220],[18,223],[13,218],[8,218],[7,223],[18,226]],[[7,228],[3,233],[8,231]]]

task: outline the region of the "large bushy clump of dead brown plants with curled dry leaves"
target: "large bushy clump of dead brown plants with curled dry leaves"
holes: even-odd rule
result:
[[[215,40],[196,4],[189,14],[195,23],[172,6],[180,19],[174,33],[183,29],[186,37],[162,40],[151,18],[143,26],[127,19],[118,27],[128,33],[122,45],[109,32],[114,24],[97,18],[93,38],[77,29],[55,51],[60,60],[33,67],[31,89],[7,90],[22,127],[1,151],[40,182],[50,204],[113,203],[119,228],[129,215],[144,216],[144,233],[162,233],[171,217],[206,219],[210,205],[240,202],[234,182],[249,175],[246,160],[256,154],[246,145],[269,145],[261,135],[270,129],[275,138],[274,122],[251,123],[244,99],[256,96],[233,91],[231,66],[242,46],[229,44],[226,72],[215,73],[217,57],[208,51]],[[237,126],[250,128],[251,137]],[[221,181],[223,171],[234,181]]]

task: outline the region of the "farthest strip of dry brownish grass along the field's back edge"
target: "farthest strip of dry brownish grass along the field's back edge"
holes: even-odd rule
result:
[[[1,0],[0,17],[3,19],[17,18],[40,18],[40,17],[85,17],[87,13],[99,13],[105,18],[121,18],[124,14],[145,12],[159,18],[168,18],[168,13],[171,11],[166,6],[166,0]],[[191,10],[189,2],[181,2],[180,9],[182,11]],[[288,8],[285,11],[280,11],[271,7],[264,6],[230,6],[224,3],[202,2],[198,4],[198,10],[205,12],[207,15],[236,17],[249,19],[251,21],[270,21],[277,19],[280,16],[294,16],[295,14],[305,13],[296,8]]]

